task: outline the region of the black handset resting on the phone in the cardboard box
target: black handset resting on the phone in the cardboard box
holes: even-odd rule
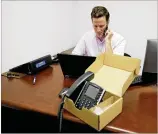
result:
[[[84,73],[83,75],[81,75],[73,84],[72,86],[69,88],[69,90],[66,93],[67,97],[70,97],[71,94],[75,91],[75,89],[77,89],[77,87],[79,87],[83,82],[90,81],[94,78],[94,73],[91,71],[88,71],[86,73]]]

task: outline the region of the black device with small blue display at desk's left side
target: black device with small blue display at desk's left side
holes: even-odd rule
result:
[[[10,69],[10,72],[18,72],[24,74],[36,74],[52,64],[51,55],[46,55],[28,63]]]

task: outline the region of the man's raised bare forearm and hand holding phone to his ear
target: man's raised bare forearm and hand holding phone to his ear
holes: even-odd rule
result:
[[[105,47],[106,52],[113,53],[112,47],[111,47],[111,39],[112,39],[113,33],[111,30],[107,30],[105,33]]]

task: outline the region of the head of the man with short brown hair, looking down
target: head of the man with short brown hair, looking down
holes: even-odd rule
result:
[[[110,14],[105,7],[96,6],[92,9],[91,19],[96,36],[100,39],[104,37],[105,29],[108,27]]]

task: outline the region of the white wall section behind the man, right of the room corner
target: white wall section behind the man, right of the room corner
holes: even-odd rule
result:
[[[76,40],[92,28],[90,13],[98,5],[110,12],[109,28],[127,40],[125,52],[140,58],[143,66],[147,39],[157,39],[157,1],[78,1]]]

